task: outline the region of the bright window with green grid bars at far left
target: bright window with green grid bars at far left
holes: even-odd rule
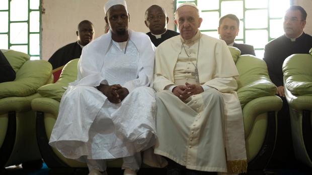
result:
[[[12,49],[40,59],[40,0],[0,0],[0,49]]]

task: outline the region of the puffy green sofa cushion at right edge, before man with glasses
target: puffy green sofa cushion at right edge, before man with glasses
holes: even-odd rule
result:
[[[312,96],[312,56],[293,54],[283,63],[285,87],[295,95]]]

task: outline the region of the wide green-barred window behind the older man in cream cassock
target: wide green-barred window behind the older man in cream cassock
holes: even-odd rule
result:
[[[176,8],[185,2],[194,3],[203,18],[200,31],[219,38],[219,18],[234,14],[240,20],[240,32],[235,42],[253,45],[256,56],[263,58],[264,46],[284,34],[283,17],[291,0],[176,0]]]

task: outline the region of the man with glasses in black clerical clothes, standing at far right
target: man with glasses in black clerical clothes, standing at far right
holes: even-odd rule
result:
[[[284,16],[284,35],[270,41],[264,48],[263,60],[267,63],[270,79],[277,87],[276,95],[283,100],[283,107],[277,114],[277,138],[274,153],[269,163],[270,168],[297,168],[300,166],[294,158],[282,66],[288,56],[308,54],[312,48],[312,36],[303,32],[306,16],[307,14],[302,7],[291,6]]]

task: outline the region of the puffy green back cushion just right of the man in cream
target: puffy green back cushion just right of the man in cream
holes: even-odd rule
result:
[[[242,107],[253,99],[275,95],[276,86],[271,82],[263,60],[252,55],[242,55],[236,67],[240,74],[237,93]]]

